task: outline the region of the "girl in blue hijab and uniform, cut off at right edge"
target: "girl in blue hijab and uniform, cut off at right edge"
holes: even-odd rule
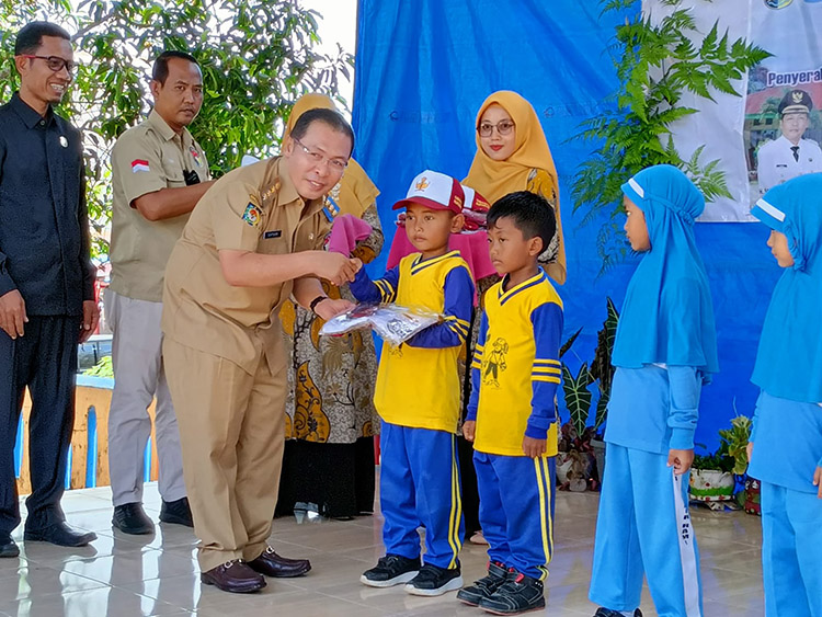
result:
[[[751,210],[785,273],[752,381],[762,388],[747,472],[762,482],[767,617],[822,616],[822,173],[775,186]]]

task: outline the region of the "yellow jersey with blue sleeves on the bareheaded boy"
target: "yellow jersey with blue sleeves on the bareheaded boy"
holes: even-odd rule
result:
[[[478,452],[525,456],[523,438],[548,439],[557,454],[555,396],[560,384],[562,300],[539,274],[503,292],[507,277],[486,293],[471,362],[468,419],[477,421]]]

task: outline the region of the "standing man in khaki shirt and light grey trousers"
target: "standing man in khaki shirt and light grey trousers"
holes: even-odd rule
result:
[[[162,281],[189,214],[213,184],[199,144],[186,126],[203,105],[197,61],[164,52],[155,61],[148,118],[119,136],[112,151],[112,283],[105,297],[114,333],[114,392],[109,414],[109,469],[114,517],[126,534],[151,534],[142,510],[148,407],[157,397],[160,521],[192,526],[174,408],[162,362]]]

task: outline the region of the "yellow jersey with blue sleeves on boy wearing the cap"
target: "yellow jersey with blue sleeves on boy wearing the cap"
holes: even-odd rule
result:
[[[351,290],[359,301],[396,302],[445,315],[441,323],[399,347],[383,344],[374,405],[391,424],[455,433],[461,387],[457,357],[473,309],[473,282],[459,251],[429,260],[420,253],[408,255],[376,282],[361,270]]]

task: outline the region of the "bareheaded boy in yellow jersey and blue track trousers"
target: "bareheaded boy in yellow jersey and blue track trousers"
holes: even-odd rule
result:
[[[496,615],[545,606],[553,552],[562,300],[537,258],[553,237],[550,205],[526,191],[488,213],[491,261],[503,277],[486,293],[463,434],[473,441],[488,575],[457,598]]]

